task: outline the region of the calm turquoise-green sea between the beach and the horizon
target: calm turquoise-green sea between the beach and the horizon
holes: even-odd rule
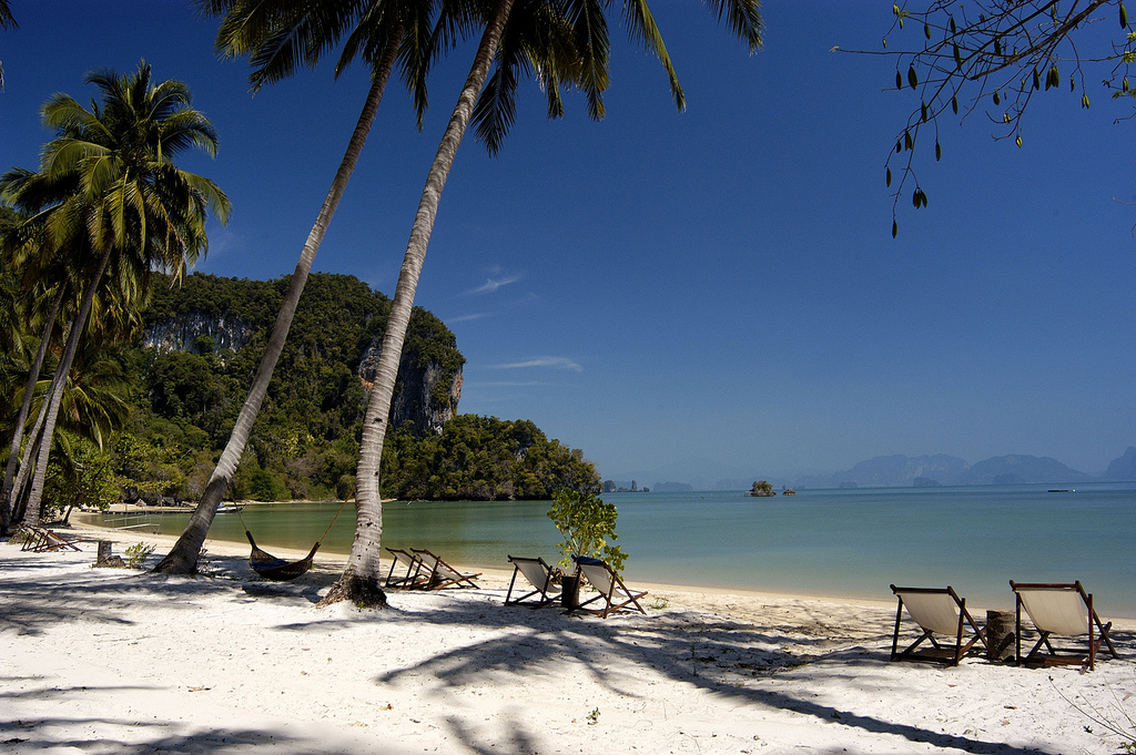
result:
[[[742,493],[620,493],[624,570],[636,580],[891,599],[888,585],[951,585],[982,607],[1012,609],[1009,580],[1072,581],[1102,615],[1136,618],[1136,484],[859,488],[751,498]],[[339,503],[249,506],[258,544],[307,550]],[[506,556],[559,556],[543,502],[390,503],[384,545],[428,547],[448,561],[507,568]],[[158,518],[176,535],[186,514]],[[344,510],[324,550],[346,553]],[[223,514],[210,537],[243,540]]]

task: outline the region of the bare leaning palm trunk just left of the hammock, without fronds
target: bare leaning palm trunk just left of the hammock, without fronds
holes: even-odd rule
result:
[[[225,492],[233,481],[233,476],[236,473],[236,465],[241,462],[244,446],[249,443],[252,423],[257,419],[260,404],[268,392],[268,384],[273,379],[273,370],[276,369],[276,362],[279,360],[281,352],[284,351],[284,341],[287,338],[289,328],[292,327],[292,318],[295,316],[295,309],[300,304],[300,294],[303,293],[303,286],[308,282],[308,272],[311,270],[311,263],[316,259],[316,252],[319,251],[319,244],[324,241],[327,226],[335,215],[335,209],[340,204],[340,199],[343,198],[343,191],[348,186],[348,181],[350,181],[356,163],[359,161],[359,154],[367,142],[367,134],[370,133],[370,127],[375,123],[378,103],[383,100],[383,91],[386,89],[386,82],[390,79],[391,72],[398,59],[401,40],[402,30],[400,28],[384,52],[378,68],[375,69],[374,81],[371,82],[370,91],[367,93],[367,101],[364,103],[362,112],[359,115],[354,132],[352,132],[351,140],[348,142],[348,149],[343,154],[343,160],[340,162],[340,169],[335,173],[332,186],[327,191],[327,196],[319,209],[319,215],[316,217],[316,225],[311,227],[311,232],[308,234],[308,241],[303,245],[300,261],[296,262],[295,272],[292,274],[292,279],[289,282],[287,292],[284,294],[284,303],[276,316],[276,322],[273,325],[273,332],[268,338],[268,347],[265,350],[265,355],[260,359],[260,366],[257,368],[257,375],[252,379],[249,396],[244,400],[244,405],[241,406],[236,425],[233,427],[233,434],[229,436],[228,444],[225,446],[225,451],[217,462],[217,468],[214,469],[212,475],[209,477],[209,483],[201,495],[201,501],[198,502],[197,509],[190,515],[190,521],[185,525],[185,529],[182,530],[181,537],[177,538],[177,543],[174,544],[169,554],[153,568],[153,571],[157,573],[191,574],[197,569],[201,545],[206,542],[206,535],[209,532],[209,527],[217,514],[217,506],[220,504]]]

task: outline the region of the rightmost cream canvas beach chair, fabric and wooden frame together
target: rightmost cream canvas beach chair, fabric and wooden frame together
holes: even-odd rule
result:
[[[1109,630],[1112,622],[1101,622],[1101,616],[1093,609],[1093,596],[1085,593],[1079,581],[1068,582],[1016,582],[1010,580],[1010,588],[1017,596],[1017,658],[1019,665],[1084,665],[1089,670],[1096,665],[1096,654],[1101,645],[1108,648],[1112,657],[1117,648],[1112,646]],[[1021,655],[1021,610],[1026,609],[1029,620],[1041,635],[1037,644],[1025,657]],[[1056,649],[1050,643],[1052,635],[1080,637],[1088,635],[1087,652],[1080,653],[1068,648]],[[1043,653],[1045,647],[1049,653]]]

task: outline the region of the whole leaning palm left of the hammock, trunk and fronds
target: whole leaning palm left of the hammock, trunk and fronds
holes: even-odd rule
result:
[[[339,76],[356,58],[371,68],[371,85],[362,112],[332,179],[316,223],[300,253],[276,316],[265,354],[233,433],[206,485],[190,521],[156,572],[191,573],[225,492],[233,481],[252,425],[260,411],[273,371],[284,350],[292,318],[308,280],[311,263],[354,171],[391,73],[401,62],[403,77],[419,111],[426,107],[425,72],[428,64],[431,17],[438,0],[323,0],[301,6],[291,0],[200,0],[208,14],[224,15],[216,47],[226,56],[249,54],[253,90],[291,76],[301,62],[314,66],[343,34],[348,40],[335,67]]]

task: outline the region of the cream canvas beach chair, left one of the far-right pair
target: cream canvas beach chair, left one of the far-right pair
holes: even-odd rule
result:
[[[926,661],[959,665],[976,643],[986,647],[986,630],[978,624],[967,611],[967,602],[959,597],[953,588],[946,587],[896,587],[892,593],[899,599],[895,606],[895,634],[892,637],[893,661]],[[903,610],[908,610],[911,619],[919,624],[922,634],[904,651],[900,651],[900,622]],[[949,641],[941,643],[935,635],[944,635]],[[917,649],[924,641],[932,647]]]

